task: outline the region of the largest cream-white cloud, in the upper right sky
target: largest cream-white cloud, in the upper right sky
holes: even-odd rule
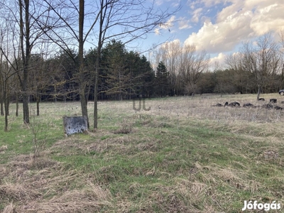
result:
[[[204,1],[212,5],[215,1]],[[230,0],[229,0],[230,1]],[[225,2],[225,1],[217,1]],[[279,31],[284,27],[283,0],[231,0],[217,13],[216,23],[204,21],[196,33],[191,33],[185,44],[194,44],[197,50],[208,53],[231,51],[241,41],[268,31]]]

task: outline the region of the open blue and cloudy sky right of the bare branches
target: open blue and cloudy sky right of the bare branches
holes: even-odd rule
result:
[[[211,62],[222,64],[242,43],[284,31],[284,0],[157,0],[155,6],[180,11],[155,28],[144,43],[178,40],[206,50]]]

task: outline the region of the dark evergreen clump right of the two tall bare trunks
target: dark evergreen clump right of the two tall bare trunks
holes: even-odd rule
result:
[[[107,99],[151,97],[154,73],[145,56],[128,52],[121,41],[112,40],[102,50],[101,87]]]

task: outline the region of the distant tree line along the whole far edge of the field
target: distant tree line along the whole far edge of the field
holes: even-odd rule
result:
[[[266,36],[268,35],[264,37]],[[246,54],[259,52],[258,50],[253,52],[251,49],[249,51],[249,44],[246,43],[242,47],[245,50],[244,53],[229,55],[226,58],[226,65],[230,66],[229,68],[209,71],[208,55],[204,52],[197,53],[195,46],[175,45],[173,50],[180,50],[178,51],[180,54],[176,53],[171,58],[168,45],[165,44],[158,50],[159,53],[155,55],[158,66],[153,69],[153,65],[145,55],[126,50],[121,41],[111,40],[107,43],[101,50],[98,99],[122,100],[204,93],[258,93],[260,85],[261,92],[268,93],[283,87],[283,67],[281,67],[283,60],[276,52],[270,56],[271,61],[246,61],[249,58]],[[260,43],[260,45],[263,44]],[[269,49],[269,51],[272,50]],[[268,56],[263,56],[264,53],[268,54],[268,50],[262,50],[261,53],[258,60],[268,58]],[[94,100],[95,76],[92,71],[95,69],[96,57],[96,48],[90,48],[84,53],[83,79],[87,101]],[[4,70],[7,62],[1,61]],[[254,67],[250,63],[261,66],[263,69],[259,70],[261,73],[256,72],[260,67]],[[53,58],[47,59],[40,54],[31,55],[30,64],[27,88],[29,102],[36,102],[39,106],[39,103],[43,101],[80,101],[80,82],[77,78],[79,58],[76,50],[71,50],[71,53],[61,50]],[[250,66],[256,70],[249,70]],[[1,74],[4,74],[3,70]],[[16,78],[16,75],[13,75],[11,70],[9,71],[11,80],[6,82],[9,83],[9,87],[1,84],[0,88],[2,115],[4,114],[4,100],[6,100],[4,95],[9,95],[8,102],[23,100],[21,93],[21,75],[23,74],[18,74],[19,78]],[[5,83],[4,78],[1,75],[1,80]],[[261,79],[260,82],[258,78]],[[5,89],[8,91],[5,92]],[[37,107],[37,114],[39,115],[39,107]]]

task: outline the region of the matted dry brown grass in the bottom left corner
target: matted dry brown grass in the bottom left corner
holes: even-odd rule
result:
[[[111,205],[111,193],[76,170],[48,158],[21,155],[9,163],[0,185],[0,197],[13,202],[4,212],[96,212]],[[78,185],[81,190],[70,189]]]

